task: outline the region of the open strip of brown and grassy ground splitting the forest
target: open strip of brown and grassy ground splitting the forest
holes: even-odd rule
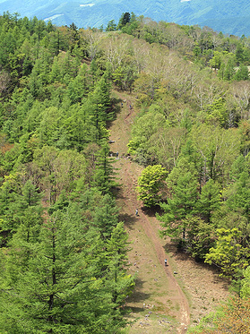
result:
[[[113,95],[119,101],[120,110],[109,127],[110,141],[114,141],[110,143],[110,151],[119,153],[114,163],[120,184],[116,190],[117,205],[131,243],[130,272],[136,276],[134,294],[126,304],[132,310],[128,316],[132,321],[129,333],[183,334],[187,327],[195,326],[227,299],[228,284],[209,265],[177,253],[168,237],[160,238],[159,220],[137,201],[135,187],[142,167],[126,157],[126,144],[139,110],[133,94],[114,91]],[[135,216],[136,208],[138,216]]]

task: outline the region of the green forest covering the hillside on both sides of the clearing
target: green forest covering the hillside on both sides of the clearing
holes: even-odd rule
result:
[[[3,13],[0,34],[1,333],[125,330],[135,277],[109,156],[114,89],[140,110],[138,198],[237,295],[195,332],[248,329],[250,39],[134,13],[87,30]],[[244,324],[228,321],[237,309]]]

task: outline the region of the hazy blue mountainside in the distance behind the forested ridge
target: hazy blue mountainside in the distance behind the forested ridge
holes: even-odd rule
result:
[[[250,36],[248,0],[0,0],[0,13],[37,16],[56,25],[78,28],[107,26],[122,13],[134,12],[154,21],[208,26],[232,35]]]

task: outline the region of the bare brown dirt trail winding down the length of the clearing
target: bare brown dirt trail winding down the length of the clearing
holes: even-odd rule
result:
[[[166,252],[163,248],[162,241],[158,235],[158,225],[159,223],[156,218],[151,218],[151,220],[147,217],[147,215],[142,211],[142,205],[136,199],[135,193],[135,185],[137,177],[140,174],[140,167],[137,167],[134,162],[132,162],[129,158],[125,158],[125,152],[127,150],[126,144],[128,142],[128,133],[130,131],[130,126],[133,123],[134,119],[134,106],[131,99],[122,99],[121,103],[121,113],[117,116],[117,119],[110,127],[110,140],[115,141],[111,144],[110,150],[111,151],[118,151],[119,157],[116,159],[116,167],[118,167],[118,175],[120,178],[121,184],[123,186],[118,192],[118,204],[121,207],[121,218],[125,221],[125,226],[130,233],[130,240],[134,242],[138,237],[145,237],[151,241],[151,251],[157,258],[157,266],[160,268],[160,278],[161,276],[165,275],[163,278],[163,282],[165,283],[166,291],[161,291],[163,296],[161,299],[161,304],[163,304],[163,309],[165,308],[164,304],[168,304],[167,301],[169,300],[169,294],[172,295],[174,303],[176,305],[176,309],[171,313],[171,315],[180,320],[180,323],[177,326],[178,333],[185,333],[185,329],[189,324],[189,306],[186,300],[184,293],[182,292],[181,288],[179,287],[176,278],[174,277],[173,270],[171,268],[171,264],[168,263],[168,266],[165,267],[164,260],[167,257]],[[118,136],[118,137],[117,137]],[[135,168],[135,169],[134,169]],[[136,169],[137,168],[137,169]],[[139,208],[139,216],[136,217],[136,224],[133,224],[134,217],[135,217],[135,209]],[[135,223],[135,222],[134,222]],[[135,231],[136,228],[140,228],[139,236],[136,236],[136,233],[131,233]],[[140,236],[140,234],[144,236]],[[135,253],[145,253],[147,252],[147,244],[144,244],[145,248],[142,250],[140,247],[134,247],[133,251]],[[136,251],[138,249],[138,251]],[[130,257],[131,261],[133,261],[133,256]],[[135,262],[136,264],[138,263]],[[140,266],[143,266],[142,259],[140,259]],[[135,266],[138,267],[138,266]],[[136,270],[139,272],[139,270]],[[147,275],[144,275],[141,270],[141,275],[138,274],[137,277],[141,279],[147,278]],[[158,275],[159,276],[159,275]],[[154,278],[158,279],[158,278]],[[166,299],[166,300],[165,300]],[[145,303],[144,303],[145,304]],[[169,310],[168,310],[169,313]]]

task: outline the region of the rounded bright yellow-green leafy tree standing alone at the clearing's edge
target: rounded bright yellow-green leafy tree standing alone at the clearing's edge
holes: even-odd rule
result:
[[[143,201],[146,207],[151,207],[159,203],[162,189],[167,176],[167,170],[160,165],[148,166],[142,170],[142,175],[138,178],[136,188],[138,200]]]

